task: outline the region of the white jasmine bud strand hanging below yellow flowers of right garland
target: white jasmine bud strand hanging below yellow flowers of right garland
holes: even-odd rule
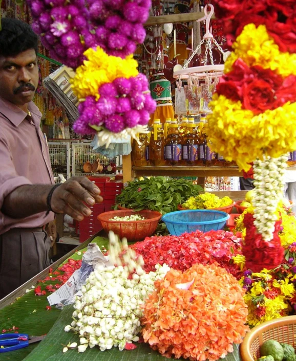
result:
[[[263,161],[253,163],[254,193],[252,205],[255,207],[254,224],[265,241],[273,238],[274,223],[277,221],[276,210],[283,197],[284,174],[287,155],[279,158],[264,156]]]

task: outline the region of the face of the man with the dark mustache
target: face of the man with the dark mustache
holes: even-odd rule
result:
[[[0,56],[0,97],[22,108],[33,100],[38,86],[38,66],[34,49],[16,56]]]

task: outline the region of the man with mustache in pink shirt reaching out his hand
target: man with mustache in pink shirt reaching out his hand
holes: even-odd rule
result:
[[[38,85],[37,36],[2,19],[0,31],[0,299],[49,265],[44,232],[54,213],[89,216],[100,190],[85,177],[54,186],[49,151],[32,102]]]

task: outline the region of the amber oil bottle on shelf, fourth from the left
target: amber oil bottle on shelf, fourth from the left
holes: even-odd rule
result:
[[[188,119],[188,124],[182,140],[182,164],[194,166],[198,164],[199,139],[193,118]]]

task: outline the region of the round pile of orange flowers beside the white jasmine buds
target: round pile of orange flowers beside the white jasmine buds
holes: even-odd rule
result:
[[[142,334],[166,357],[217,360],[249,330],[245,291],[218,265],[171,269],[155,289],[143,305]]]

